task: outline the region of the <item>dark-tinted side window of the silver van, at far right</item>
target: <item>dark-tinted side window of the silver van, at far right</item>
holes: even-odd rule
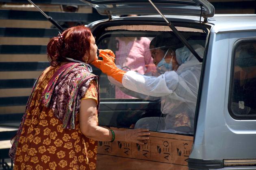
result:
[[[256,118],[256,41],[243,40],[234,48],[231,77],[230,114]]]

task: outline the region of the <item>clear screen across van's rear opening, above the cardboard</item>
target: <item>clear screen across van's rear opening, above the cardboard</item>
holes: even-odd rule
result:
[[[193,134],[202,63],[179,40],[172,38],[172,32],[143,27],[108,28],[97,40],[98,49],[111,49],[115,53],[118,68],[135,75],[125,74],[123,79],[130,79],[131,84],[124,87],[100,73],[99,124]],[[203,57],[206,33],[191,28],[180,32]],[[138,78],[138,74],[146,77]]]

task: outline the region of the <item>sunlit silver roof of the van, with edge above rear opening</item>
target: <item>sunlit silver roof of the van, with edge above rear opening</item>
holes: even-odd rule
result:
[[[184,16],[184,15],[165,15],[169,21],[185,21],[198,23],[200,17],[196,16]],[[201,18],[203,22],[204,18]],[[113,21],[164,21],[161,15],[143,15],[136,17],[114,17]],[[102,21],[108,21],[102,20]],[[96,21],[91,26],[95,26],[102,21]],[[215,14],[213,17],[207,19],[207,23],[210,25],[212,33],[221,32],[234,32],[243,30],[256,30],[256,15],[255,14]]]

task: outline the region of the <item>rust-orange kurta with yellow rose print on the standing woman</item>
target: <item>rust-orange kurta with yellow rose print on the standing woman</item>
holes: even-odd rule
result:
[[[14,170],[95,169],[97,142],[81,133],[79,116],[75,119],[75,129],[64,129],[53,110],[39,102],[58,68],[47,68],[39,79],[18,142]],[[92,80],[83,99],[93,98],[97,102],[97,86]]]

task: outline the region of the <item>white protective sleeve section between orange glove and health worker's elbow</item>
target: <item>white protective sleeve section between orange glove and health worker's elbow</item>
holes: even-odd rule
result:
[[[161,97],[172,94],[179,81],[179,76],[175,71],[165,72],[159,77],[151,77],[128,71],[124,74],[122,84],[125,88],[138,93]]]

